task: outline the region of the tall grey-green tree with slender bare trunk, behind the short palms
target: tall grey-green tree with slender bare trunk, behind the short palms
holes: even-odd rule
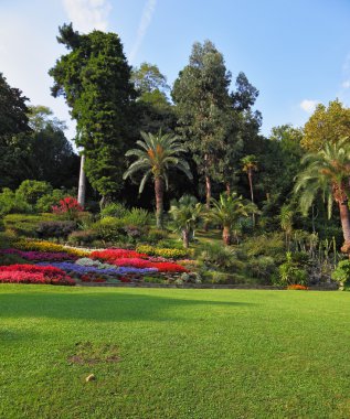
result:
[[[231,74],[214,44],[194,43],[189,64],[174,82],[172,98],[179,117],[179,132],[187,139],[198,170],[205,181],[206,207],[210,206],[216,155],[224,150],[231,99]]]

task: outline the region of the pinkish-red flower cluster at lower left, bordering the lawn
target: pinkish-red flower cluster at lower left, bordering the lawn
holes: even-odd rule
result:
[[[34,265],[0,266],[0,282],[75,286],[75,281],[65,271]]]

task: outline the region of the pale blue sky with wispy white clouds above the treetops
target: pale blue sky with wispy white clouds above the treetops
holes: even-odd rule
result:
[[[116,32],[132,66],[157,64],[171,86],[192,44],[211,40],[233,82],[244,72],[259,90],[262,133],[303,126],[316,104],[350,107],[350,0],[0,0],[0,73],[30,105],[74,121],[50,93],[47,71],[66,53],[59,26]],[[234,85],[232,86],[234,87]]]

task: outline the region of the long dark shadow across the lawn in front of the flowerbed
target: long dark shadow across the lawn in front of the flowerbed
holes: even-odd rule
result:
[[[32,291],[32,290],[31,290]],[[185,320],[183,312],[199,309],[199,315],[213,307],[232,314],[247,302],[191,300],[127,292],[29,292],[0,294],[0,319],[52,318],[96,322]],[[195,312],[193,313],[195,318]]]

